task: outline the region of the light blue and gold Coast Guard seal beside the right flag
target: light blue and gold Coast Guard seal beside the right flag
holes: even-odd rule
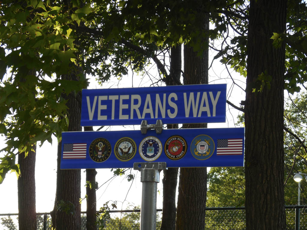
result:
[[[191,143],[191,153],[198,160],[210,158],[215,150],[214,141],[208,135],[198,135]]]

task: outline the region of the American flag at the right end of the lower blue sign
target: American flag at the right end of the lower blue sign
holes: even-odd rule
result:
[[[216,155],[242,155],[243,139],[217,139]]]

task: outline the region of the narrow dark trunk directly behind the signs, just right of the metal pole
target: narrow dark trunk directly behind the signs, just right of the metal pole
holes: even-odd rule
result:
[[[181,45],[171,48],[170,74],[166,85],[177,85],[181,76]],[[167,128],[178,128],[178,124],[169,124]],[[176,188],[178,168],[164,170],[163,204],[161,230],[175,230],[176,227]]]

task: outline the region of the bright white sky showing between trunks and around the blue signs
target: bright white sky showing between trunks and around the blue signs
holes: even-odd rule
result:
[[[213,66],[213,70],[209,71],[209,82],[210,84],[222,84],[227,83],[227,92],[231,91],[231,96],[227,94],[227,100],[231,101],[235,105],[239,106],[241,100],[245,100],[244,92],[238,87],[234,86],[232,89],[232,81],[228,78],[228,73],[224,67],[216,61],[216,65]],[[156,74],[153,72],[153,74]],[[240,86],[245,89],[245,79],[233,73],[234,76],[239,79]],[[227,79],[228,78],[228,79]],[[119,84],[118,84],[119,83]],[[141,81],[141,77],[134,74],[133,84],[132,75],[124,76],[123,79],[118,82],[116,78],[111,79],[109,83],[99,86],[91,81],[89,89],[95,88],[122,88],[122,87],[142,87],[149,86],[151,81],[149,77],[145,77]],[[230,108],[230,110],[229,110]],[[212,123],[208,124],[208,128],[227,128],[235,127],[234,120],[238,115],[238,111],[233,109],[231,106],[226,106],[227,121],[225,123]],[[98,127],[94,127],[94,130]],[[127,127],[125,127],[126,129]],[[133,129],[133,127],[128,127]],[[127,129],[128,129],[127,128]],[[138,126],[134,126],[137,130]],[[112,130],[122,130],[124,127],[116,126]],[[0,142],[0,147],[3,145]],[[36,154],[36,168],[35,168],[35,181],[36,181],[36,211],[37,212],[50,212],[54,206],[54,197],[56,192],[56,154],[57,154],[57,140],[53,138],[53,144],[45,142],[41,148],[37,148]],[[0,153],[2,156],[4,153]],[[131,165],[131,167],[133,167]],[[96,181],[101,186],[109,178],[113,176],[113,172],[110,169],[96,169]],[[106,201],[117,201],[118,209],[126,209],[131,205],[140,205],[142,197],[142,183],[140,182],[140,173],[132,170],[136,173],[136,178],[133,182],[127,182],[125,176],[116,177],[111,182],[104,184],[96,192],[97,196],[97,209],[102,207]],[[81,170],[81,197],[85,196],[85,170]],[[157,195],[157,208],[162,208],[162,183],[163,172],[160,174],[160,183],[158,183],[158,190],[160,193]],[[131,187],[130,187],[131,186]],[[126,200],[125,200],[126,197]],[[111,203],[111,202],[110,202]],[[86,211],[86,201],[84,200],[81,204],[82,211]],[[17,177],[15,173],[7,174],[4,182],[0,185],[0,213],[18,213],[18,202],[17,202]]]

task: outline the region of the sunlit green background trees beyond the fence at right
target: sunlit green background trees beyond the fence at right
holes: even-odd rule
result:
[[[295,97],[290,94],[285,98],[285,132],[284,132],[284,165],[285,205],[297,205],[298,184],[293,180],[293,173],[307,173],[307,148],[299,140],[307,139],[307,91],[302,90]],[[244,113],[239,115],[236,125],[244,124]],[[293,137],[289,130],[297,138]],[[301,181],[301,205],[307,202],[307,182]],[[214,167],[208,173],[208,207],[243,206],[245,200],[244,168]]]

